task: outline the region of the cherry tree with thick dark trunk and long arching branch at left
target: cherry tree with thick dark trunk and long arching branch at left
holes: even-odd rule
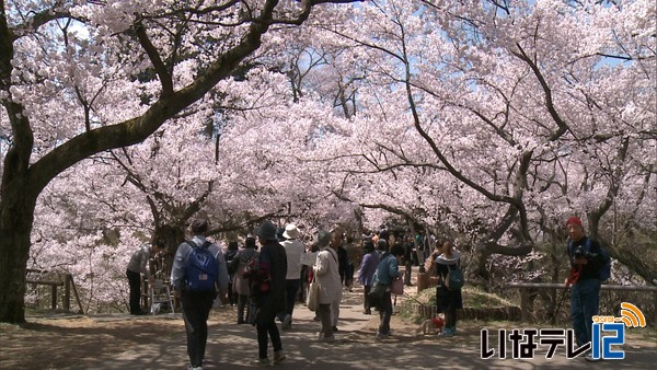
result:
[[[74,163],[145,140],[256,50],[345,0],[0,1],[0,321],[23,322],[36,200]],[[331,11],[332,8],[323,8]]]

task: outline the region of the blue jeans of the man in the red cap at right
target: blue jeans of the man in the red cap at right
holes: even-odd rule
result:
[[[578,347],[591,342],[593,316],[600,307],[600,284],[599,279],[586,279],[570,290],[570,319]]]

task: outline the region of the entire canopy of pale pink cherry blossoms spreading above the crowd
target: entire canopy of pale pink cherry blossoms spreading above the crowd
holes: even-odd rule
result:
[[[504,269],[555,279],[535,262],[558,267],[563,219],[577,213],[655,278],[639,257],[657,199],[648,1],[374,0],[311,13],[320,2],[115,1],[36,18],[11,3],[0,149],[12,143],[3,176],[20,181],[3,177],[2,235],[32,233],[30,263],[67,266],[99,307],[125,297],[131,245],[177,243],[196,215],[220,232],[263,217],[373,229],[392,213],[457,239],[471,274],[493,280]],[[13,200],[19,189],[30,192]],[[37,207],[21,208],[34,228],[4,223],[9,199]],[[18,240],[27,251],[11,235],[3,255]],[[18,301],[3,296],[3,317],[20,311],[5,302]]]

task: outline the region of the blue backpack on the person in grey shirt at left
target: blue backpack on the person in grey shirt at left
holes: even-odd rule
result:
[[[193,241],[188,241],[187,244],[192,246],[192,252],[185,268],[185,289],[192,291],[215,290],[215,281],[219,276],[219,263],[208,248],[212,243],[206,241],[198,246]]]

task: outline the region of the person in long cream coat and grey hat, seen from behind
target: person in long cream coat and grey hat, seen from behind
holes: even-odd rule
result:
[[[328,245],[330,242],[330,232],[322,230],[318,233],[320,252],[314,265],[315,279],[321,287],[320,305],[318,308],[318,314],[322,323],[320,340],[328,343],[335,342],[333,331],[337,326],[339,301],[342,299],[337,252]]]

